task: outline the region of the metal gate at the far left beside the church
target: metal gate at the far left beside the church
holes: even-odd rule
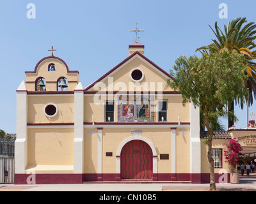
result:
[[[0,184],[14,183],[14,141],[0,140]]]

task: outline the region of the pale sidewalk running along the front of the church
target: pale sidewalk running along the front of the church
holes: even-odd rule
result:
[[[256,173],[239,184],[216,184],[217,191],[256,191]],[[0,184],[0,191],[209,191],[209,184]]]

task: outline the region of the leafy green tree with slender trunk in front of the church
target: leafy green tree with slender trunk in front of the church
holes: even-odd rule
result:
[[[205,117],[205,126],[209,133],[207,140],[207,160],[211,175],[210,189],[216,190],[214,175],[214,162],[212,159],[213,131],[209,118],[212,115],[227,115],[228,101],[232,99],[244,100],[247,96],[244,80],[246,66],[244,55],[228,52],[226,48],[219,53],[203,54],[201,58],[196,56],[181,56],[175,61],[170,70],[173,80],[168,80],[167,85],[182,94],[182,103],[192,102],[196,107],[202,108]]]

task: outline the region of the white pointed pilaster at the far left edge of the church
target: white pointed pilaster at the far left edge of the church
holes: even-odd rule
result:
[[[28,94],[25,82],[17,89],[17,128],[15,140],[15,173],[25,173],[28,165]]]

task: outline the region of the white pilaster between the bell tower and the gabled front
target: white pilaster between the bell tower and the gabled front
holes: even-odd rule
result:
[[[74,89],[74,173],[84,173],[84,89]]]

